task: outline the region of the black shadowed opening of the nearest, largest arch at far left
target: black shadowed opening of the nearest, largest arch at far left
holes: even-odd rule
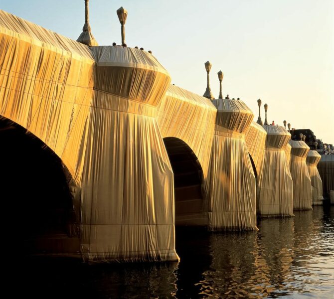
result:
[[[15,238],[13,246],[28,255],[77,252],[76,215],[69,188],[73,178],[59,156],[3,116],[0,144],[1,202],[10,224],[8,234]],[[72,238],[77,239],[74,247],[69,245]]]

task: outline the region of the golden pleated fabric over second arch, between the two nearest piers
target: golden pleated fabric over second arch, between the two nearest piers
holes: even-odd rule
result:
[[[157,122],[165,137],[184,141],[196,154],[206,181],[217,109],[207,98],[169,85],[158,106]]]

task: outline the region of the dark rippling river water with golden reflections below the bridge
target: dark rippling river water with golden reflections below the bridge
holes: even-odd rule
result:
[[[333,298],[334,207],[295,215],[261,219],[258,232],[177,229],[178,264],[38,259],[16,283],[44,298]]]

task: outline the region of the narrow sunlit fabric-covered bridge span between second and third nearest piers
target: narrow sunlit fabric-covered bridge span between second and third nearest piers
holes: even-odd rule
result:
[[[245,141],[251,155],[257,174],[261,172],[267,132],[254,121],[245,132]]]

